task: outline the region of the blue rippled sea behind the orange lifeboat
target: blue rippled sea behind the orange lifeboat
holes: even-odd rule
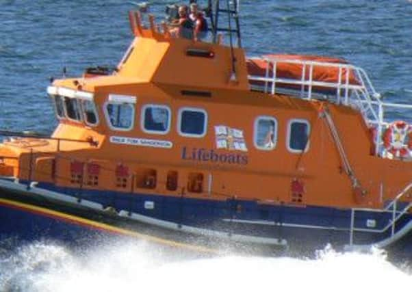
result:
[[[152,1],[157,19],[164,4]],[[49,77],[114,66],[131,42],[133,1],[2,0],[0,127],[50,132]],[[408,0],[240,1],[248,55],[344,57],[365,68],[386,101],[412,103],[412,3]]]

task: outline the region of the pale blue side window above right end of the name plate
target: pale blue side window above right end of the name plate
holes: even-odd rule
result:
[[[166,134],[170,130],[170,109],[165,105],[145,105],[142,108],[142,129],[146,133]]]

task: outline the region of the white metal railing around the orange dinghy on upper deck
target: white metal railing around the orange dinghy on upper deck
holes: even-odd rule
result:
[[[266,75],[249,75],[251,90],[270,94],[289,94],[307,100],[330,101],[358,109],[368,126],[376,129],[374,137],[376,155],[383,156],[382,136],[390,122],[394,120],[387,118],[385,109],[390,108],[401,113],[408,111],[402,116],[405,118],[412,116],[412,105],[383,103],[381,94],[376,92],[365,70],[357,66],[276,57],[263,57],[259,60],[266,62]],[[300,68],[300,75],[280,76],[279,68],[285,65]],[[325,74],[337,72],[337,75],[333,78],[329,77],[327,81],[316,79],[315,71],[319,72],[322,69],[327,72]]]

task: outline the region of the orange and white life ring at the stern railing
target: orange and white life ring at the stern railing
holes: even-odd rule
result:
[[[391,122],[383,132],[383,146],[387,157],[411,158],[412,125],[402,120]]]

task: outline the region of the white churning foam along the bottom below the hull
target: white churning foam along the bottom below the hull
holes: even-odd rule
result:
[[[224,256],[182,260],[146,244],[107,245],[73,252],[32,243],[0,261],[1,291],[387,291],[412,282],[407,267],[381,252],[338,253],[316,259]]]

